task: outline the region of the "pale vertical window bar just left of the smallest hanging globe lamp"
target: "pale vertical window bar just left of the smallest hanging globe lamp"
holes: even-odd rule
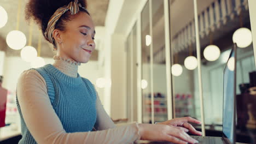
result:
[[[167,85],[167,116],[173,118],[172,110],[172,76],[171,76],[171,47],[170,47],[170,14],[169,1],[164,0],[165,16],[165,64],[166,64],[166,85]]]

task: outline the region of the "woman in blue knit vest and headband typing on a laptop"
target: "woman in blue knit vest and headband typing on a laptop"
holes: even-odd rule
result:
[[[86,1],[30,0],[26,19],[33,18],[57,55],[53,65],[21,74],[17,105],[21,116],[19,143],[133,143],[160,140],[196,143],[186,132],[201,135],[190,117],[159,124],[115,127],[91,82],[78,74],[95,50],[95,27]],[[95,128],[97,131],[91,131]]]

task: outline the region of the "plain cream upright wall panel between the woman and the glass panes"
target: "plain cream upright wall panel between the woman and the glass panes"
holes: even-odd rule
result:
[[[112,35],[111,53],[111,117],[127,118],[126,101],[126,52],[124,35]]]

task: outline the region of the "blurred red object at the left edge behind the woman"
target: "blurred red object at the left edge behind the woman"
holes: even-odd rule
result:
[[[5,111],[7,103],[7,89],[0,86],[0,128],[5,127]]]

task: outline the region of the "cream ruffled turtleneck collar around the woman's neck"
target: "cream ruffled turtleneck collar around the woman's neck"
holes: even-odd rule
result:
[[[81,63],[60,56],[54,56],[54,60],[53,66],[59,69],[63,74],[70,77],[78,77],[78,65]]]

